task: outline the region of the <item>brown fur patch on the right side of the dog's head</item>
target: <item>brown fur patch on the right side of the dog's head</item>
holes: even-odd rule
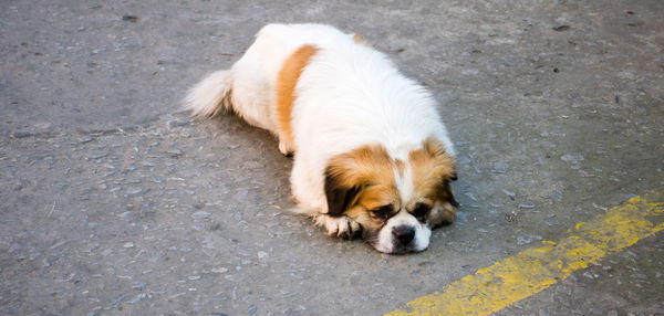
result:
[[[408,159],[413,172],[413,196],[432,200],[442,208],[429,214],[432,225],[454,220],[457,202],[449,181],[456,178],[455,159],[434,138],[426,139],[421,149],[411,151]]]

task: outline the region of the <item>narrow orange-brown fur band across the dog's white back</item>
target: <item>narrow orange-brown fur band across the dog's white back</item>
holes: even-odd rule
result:
[[[318,51],[312,45],[303,45],[294,51],[283,62],[279,75],[277,77],[277,128],[279,130],[279,139],[287,144],[290,149],[294,148],[293,131],[291,127],[292,108],[295,102],[295,85],[300,80],[302,70],[309,64],[311,56]]]

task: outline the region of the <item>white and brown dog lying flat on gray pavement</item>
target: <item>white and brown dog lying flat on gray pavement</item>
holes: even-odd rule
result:
[[[324,24],[268,24],[230,70],[184,99],[193,116],[232,109],[293,155],[297,212],[383,253],[428,247],[456,218],[448,133],[433,96],[361,36]]]

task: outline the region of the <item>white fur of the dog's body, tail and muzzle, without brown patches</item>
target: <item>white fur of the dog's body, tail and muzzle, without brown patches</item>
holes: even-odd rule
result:
[[[240,116],[283,139],[274,117],[276,81],[286,59],[302,45],[318,49],[295,86],[291,113],[295,147],[291,186],[302,212],[328,212],[323,173],[335,155],[381,144],[393,158],[405,161],[411,150],[434,137],[454,156],[432,95],[402,75],[386,55],[329,25],[264,27],[229,71],[212,73],[189,92],[186,107],[195,115],[214,114],[230,91],[232,108]],[[412,190],[412,183],[401,187]],[[407,221],[413,220],[417,221]],[[335,222],[328,229],[338,227]],[[428,245],[429,234],[428,228],[417,229],[417,247]]]

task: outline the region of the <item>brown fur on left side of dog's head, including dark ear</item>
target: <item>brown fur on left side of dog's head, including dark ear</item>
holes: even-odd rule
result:
[[[328,213],[341,215],[356,204],[365,209],[398,199],[394,161],[380,145],[363,146],[334,156],[325,169]]]

